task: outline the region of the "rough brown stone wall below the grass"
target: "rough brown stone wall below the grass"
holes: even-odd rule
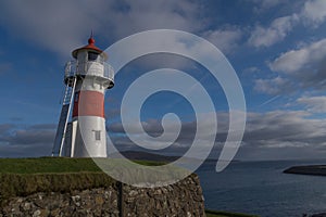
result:
[[[123,194],[121,194],[121,191]],[[186,179],[161,188],[135,188],[123,184],[100,189],[39,192],[12,197],[0,209],[4,216],[204,216],[199,179]]]

